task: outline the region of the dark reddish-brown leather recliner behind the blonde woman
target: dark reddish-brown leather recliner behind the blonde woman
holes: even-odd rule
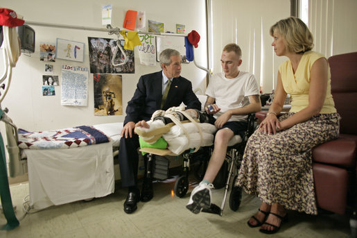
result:
[[[313,176],[318,207],[345,214],[347,205],[357,209],[357,52],[331,56],[329,65],[340,136],[313,148]]]

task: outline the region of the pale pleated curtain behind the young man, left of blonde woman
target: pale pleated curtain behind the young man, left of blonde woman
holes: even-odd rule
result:
[[[214,73],[221,71],[220,56],[226,44],[242,49],[241,71],[255,75],[263,93],[277,84],[277,70],[286,57],[275,56],[270,26],[290,16],[290,0],[209,0],[211,28],[209,62]]]

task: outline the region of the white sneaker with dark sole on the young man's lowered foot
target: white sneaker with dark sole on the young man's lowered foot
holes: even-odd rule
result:
[[[200,182],[200,185],[195,187],[191,192],[191,197],[186,208],[194,214],[198,214],[202,209],[209,209],[211,206],[211,189],[213,188],[214,185],[211,183]]]

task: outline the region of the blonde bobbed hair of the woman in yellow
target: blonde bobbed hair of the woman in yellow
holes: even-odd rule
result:
[[[270,35],[279,33],[289,52],[303,53],[313,49],[313,34],[301,19],[288,17],[270,27]]]

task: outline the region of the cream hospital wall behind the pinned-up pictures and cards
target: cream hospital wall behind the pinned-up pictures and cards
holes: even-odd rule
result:
[[[102,11],[104,5],[112,4],[112,26],[123,28],[123,20],[127,10],[142,10],[146,12],[146,19],[164,22],[165,30],[175,32],[176,24],[184,24],[186,33],[192,30],[200,34],[198,49],[195,49],[195,60],[198,65],[207,67],[207,25],[205,0],[182,1],[104,1],[104,0],[5,0],[1,1],[1,8],[10,8],[24,17],[25,23],[42,22],[71,26],[85,26],[105,28],[102,25]],[[189,7],[187,7],[189,6]],[[31,26],[31,25],[30,25]],[[18,128],[30,131],[52,130],[72,126],[104,124],[123,121],[125,108],[136,89],[139,77],[154,71],[159,71],[159,62],[155,67],[144,66],[139,62],[138,47],[134,48],[134,74],[121,74],[123,78],[123,115],[98,117],[94,116],[94,80],[89,74],[88,105],[61,105],[60,86],[55,87],[55,96],[42,96],[42,75],[44,75],[44,61],[40,61],[40,42],[56,42],[57,38],[85,43],[84,62],[56,59],[53,62],[54,74],[58,75],[61,83],[62,65],[88,67],[89,50],[87,37],[103,37],[116,39],[116,35],[106,32],[85,31],[70,28],[53,28],[31,26],[35,29],[36,48],[31,56],[22,54],[13,69],[10,90],[1,103],[2,108],[8,108],[8,116]],[[182,37],[182,44],[184,38]],[[0,59],[3,65],[3,59]],[[0,74],[3,67],[0,67]],[[193,62],[182,65],[182,76],[191,80],[193,89],[205,90],[206,72],[198,69]],[[4,135],[3,125],[1,132]]]

